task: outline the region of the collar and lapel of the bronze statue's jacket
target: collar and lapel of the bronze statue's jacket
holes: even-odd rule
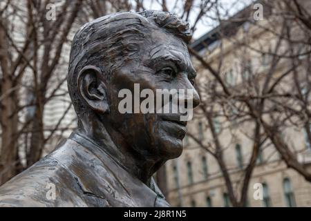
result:
[[[88,137],[72,133],[69,140],[79,144],[76,153],[84,152],[78,154],[78,161],[81,164],[88,164],[85,166],[86,173],[80,173],[79,177],[85,191],[101,198],[107,198],[108,194],[107,200],[115,206],[169,206],[153,178],[149,188]],[[82,151],[83,148],[87,151]],[[79,169],[75,166],[72,170]],[[125,205],[122,205],[124,202]]]

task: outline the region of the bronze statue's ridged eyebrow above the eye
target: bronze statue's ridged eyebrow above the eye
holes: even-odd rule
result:
[[[155,53],[156,54],[156,53]],[[154,54],[153,54],[154,55]],[[184,59],[180,59],[174,55],[158,55],[158,56],[152,56],[151,62],[152,64],[161,62],[161,61],[171,61],[173,62],[180,70],[185,70],[189,76],[189,78],[196,77],[196,70],[191,65],[191,62],[187,62],[189,64],[186,64]]]

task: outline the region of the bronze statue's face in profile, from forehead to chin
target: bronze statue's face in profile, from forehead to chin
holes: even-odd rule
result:
[[[193,86],[194,72],[182,40],[163,30],[155,30],[140,45],[140,50],[124,60],[123,66],[113,73],[107,85],[111,102],[107,117],[126,142],[147,160],[178,157],[182,153],[187,122],[180,121],[178,114],[122,114],[118,104],[123,98],[118,93],[126,88],[134,95],[134,84],[139,84],[140,91],[151,89],[154,95],[156,89],[192,89],[193,106],[196,107],[199,96]]]

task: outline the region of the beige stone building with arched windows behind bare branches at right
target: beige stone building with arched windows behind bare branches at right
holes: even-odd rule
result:
[[[194,41],[191,47],[215,68],[222,59],[220,77],[223,77],[226,84],[234,87],[236,91],[246,90],[244,78],[247,78],[251,72],[256,73],[259,79],[256,84],[261,85],[263,84],[261,75],[264,79],[272,62],[269,51],[276,48],[278,38],[265,28],[258,27],[269,26],[279,30],[278,21],[272,21],[273,18],[268,17],[273,11],[273,8],[266,8],[266,19],[254,23],[249,19],[241,19],[248,18],[249,8],[245,8],[232,17],[232,22],[207,32]],[[249,50],[249,48],[258,48],[258,45],[261,45],[267,53]],[[208,82],[211,79],[210,72],[196,59],[194,65],[198,72],[198,82]],[[287,61],[281,60],[274,70],[275,75],[281,75],[286,67],[288,67]],[[211,84],[206,85],[211,86]],[[284,87],[289,86],[285,84]],[[205,94],[201,93],[202,96]],[[214,127],[223,146],[223,158],[235,194],[239,195],[238,189],[243,182],[244,170],[252,155],[254,141],[251,132],[254,124],[236,123],[234,119],[218,115]],[[204,117],[194,117],[188,125],[188,131],[207,146],[213,139],[209,128],[209,122]],[[295,153],[305,168],[311,169],[311,148],[310,143],[305,139],[304,129],[288,126],[280,133],[290,146],[294,146]],[[215,157],[189,135],[185,137],[184,147],[182,155],[175,160],[170,160],[165,166],[167,198],[171,205],[231,206],[225,180]],[[261,191],[261,199],[256,197],[258,190]],[[288,169],[274,146],[266,142],[261,146],[258,154],[246,201],[245,206],[311,206],[311,183],[305,181],[304,177],[293,169]]]

